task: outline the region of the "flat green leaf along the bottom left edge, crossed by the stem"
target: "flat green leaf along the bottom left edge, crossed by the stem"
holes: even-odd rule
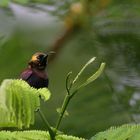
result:
[[[49,133],[46,131],[30,130],[30,131],[0,131],[2,140],[50,140]],[[74,136],[58,135],[56,140],[84,140]]]

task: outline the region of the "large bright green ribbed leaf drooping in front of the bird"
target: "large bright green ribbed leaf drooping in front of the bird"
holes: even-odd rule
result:
[[[46,101],[50,92],[32,88],[22,80],[4,80],[0,86],[0,127],[28,128],[34,124],[39,96]]]

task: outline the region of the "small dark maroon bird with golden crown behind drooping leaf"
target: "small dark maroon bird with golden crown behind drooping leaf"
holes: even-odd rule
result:
[[[28,62],[28,67],[20,74],[20,79],[26,81],[31,87],[36,89],[48,88],[49,78],[46,68],[49,54],[51,52],[48,54],[43,52],[33,54]]]

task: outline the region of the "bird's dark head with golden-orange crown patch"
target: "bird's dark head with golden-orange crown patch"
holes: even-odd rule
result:
[[[42,52],[37,52],[35,53],[31,60],[29,61],[29,67],[35,68],[38,70],[45,70],[47,66],[47,58],[49,56],[48,54],[42,53]]]

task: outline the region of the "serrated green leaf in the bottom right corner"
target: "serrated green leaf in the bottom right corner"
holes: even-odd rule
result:
[[[90,140],[139,140],[140,125],[127,124],[99,132]]]

